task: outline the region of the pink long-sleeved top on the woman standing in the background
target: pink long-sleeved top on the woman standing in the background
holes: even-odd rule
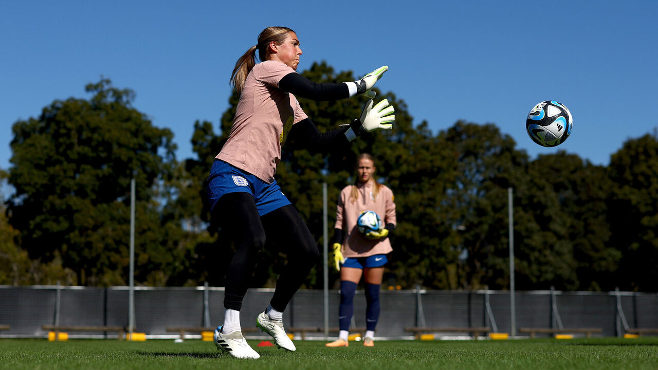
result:
[[[345,186],[338,197],[336,207],[336,226],[343,230],[343,256],[368,257],[375,254],[390,253],[393,248],[389,238],[384,240],[367,239],[357,228],[357,219],[362,211],[375,211],[384,221],[384,225],[396,225],[395,203],[393,203],[393,192],[387,186],[382,185],[379,189],[377,199],[372,194],[372,182],[366,184],[359,182],[359,199],[352,203],[349,194],[352,186]]]

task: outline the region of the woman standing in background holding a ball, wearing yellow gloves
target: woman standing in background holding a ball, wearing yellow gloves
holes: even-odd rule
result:
[[[374,157],[363,153],[357,158],[355,184],[346,186],[338,198],[336,226],[334,226],[334,266],[340,270],[340,307],[338,340],[328,347],[347,347],[349,323],[354,313],[354,294],[363,275],[366,293],[367,331],[363,345],[374,346],[374,330],[379,319],[379,289],[384,277],[386,254],[393,248],[388,239],[395,228],[393,192],[374,180]],[[384,221],[384,228],[363,235],[357,229],[357,218],[363,211],[374,211]],[[342,265],[342,267],[341,267]]]

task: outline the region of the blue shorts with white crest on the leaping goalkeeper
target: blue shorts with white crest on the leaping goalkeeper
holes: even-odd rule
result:
[[[253,174],[218,159],[215,159],[208,176],[207,188],[211,211],[224,194],[237,192],[251,194],[261,216],[290,204],[276,180],[268,184]]]

